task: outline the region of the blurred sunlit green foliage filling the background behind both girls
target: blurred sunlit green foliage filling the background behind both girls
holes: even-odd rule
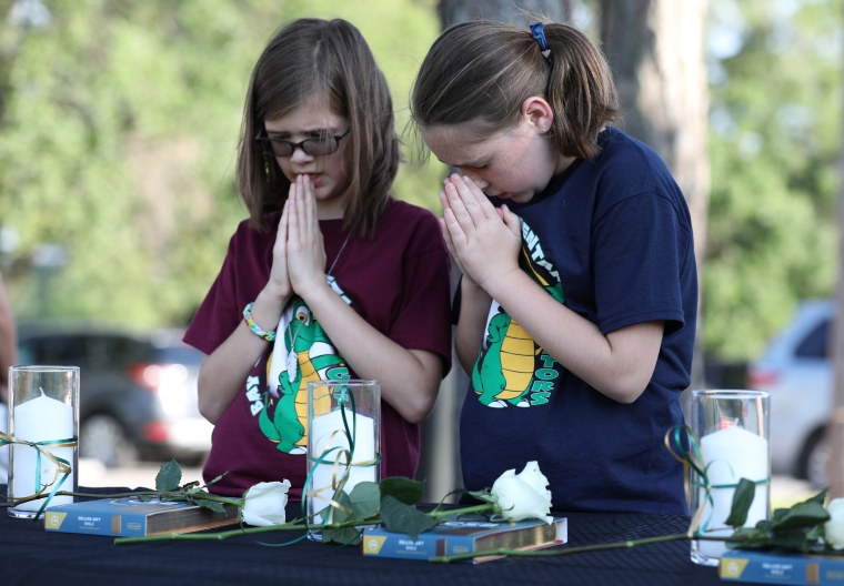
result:
[[[429,0],[44,3],[44,29],[0,21],[0,229],[18,236],[0,270],[21,321],[187,323],[247,215],[243,98],[275,29],[303,16],[355,23],[404,129],[440,27]],[[844,0],[709,6],[740,47],[711,67],[702,331],[707,351],[746,360],[796,300],[835,282]],[[0,0],[0,16],[10,7]],[[402,165],[396,196],[439,213],[442,172]],[[67,265],[39,266],[43,243],[64,246]]]

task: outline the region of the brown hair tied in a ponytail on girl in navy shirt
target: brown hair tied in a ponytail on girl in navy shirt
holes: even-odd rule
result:
[[[428,52],[411,97],[420,127],[473,121],[484,132],[514,125],[533,95],[551,104],[550,138],[565,156],[597,154],[597,134],[619,115],[615,84],[601,51],[577,29],[544,27],[542,55],[528,28],[489,20],[455,24]]]

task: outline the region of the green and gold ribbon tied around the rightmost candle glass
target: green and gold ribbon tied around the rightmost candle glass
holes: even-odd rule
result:
[[[689,449],[683,445],[682,432],[685,432],[685,435],[689,438]],[[703,488],[704,491],[704,498],[701,499],[701,505],[697,507],[697,511],[693,512],[692,523],[689,526],[689,538],[701,537],[706,532],[706,528],[712,522],[712,514],[715,511],[715,501],[712,497],[711,492],[712,488],[737,488],[738,483],[710,484],[710,478],[706,475],[706,471],[712,465],[712,462],[703,462],[703,455],[701,454],[701,449],[699,447],[697,437],[695,437],[694,432],[692,432],[687,425],[675,425],[674,427],[670,428],[667,432],[665,432],[664,442],[665,447],[669,448],[671,455],[679,459],[681,464],[683,464],[683,486],[685,489],[686,503],[691,506],[693,489]],[[690,471],[693,471],[700,481],[695,481],[694,475],[690,474]],[[735,475],[735,471],[732,472],[733,475]],[[691,481],[690,477],[692,478]],[[771,478],[768,477],[761,481],[750,482],[755,485],[770,484]],[[706,517],[703,524],[701,524],[701,517],[703,516],[703,508],[706,505],[706,502],[710,503],[710,515]]]

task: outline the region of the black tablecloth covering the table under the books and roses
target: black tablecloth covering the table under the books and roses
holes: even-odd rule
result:
[[[0,485],[0,491],[6,494],[6,486]],[[80,491],[118,493],[125,488]],[[289,516],[297,516],[299,511],[295,504]],[[689,527],[689,518],[680,515],[555,514],[569,518],[567,546],[676,534]],[[283,547],[262,545],[287,543],[299,535],[278,532],[222,542],[114,545],[112,537],[47,532],[42,521],[11,518],[6,511],[0,511],[0,584],[696,586],[720,583],[715,568],[690,560],[687,540],[561,557],[510,557],[476,565],[364,557],[359,547],[336,547],[308,539]]]

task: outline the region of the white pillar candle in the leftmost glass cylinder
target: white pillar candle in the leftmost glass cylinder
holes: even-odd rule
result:
[[[38,396],[26,403],[14,406],[14,437],[27,442],[49,442],[57,440],[71,440],[73,434],[73,407],[46,395]],[[73,447],[56,447],[52,445],[41,446],[57,457],[63,458],[71,467],[71,473],[61,485],[61,491],[73,491]],[[12,474],[14,479],[12,497],[21,498],[31,496],[36,489],[38,454],[34,447],[12,444]],[[56,463],[41,454],[41,485],[47,485],[44,491],[49,494],[61,481],[63,474],[59,474]],[[73,497],[67,495],[53,496],[51,505],[72,503]],[[19,511],[38,512],[43,505],[43,499],[29,501],[14,506]]]

